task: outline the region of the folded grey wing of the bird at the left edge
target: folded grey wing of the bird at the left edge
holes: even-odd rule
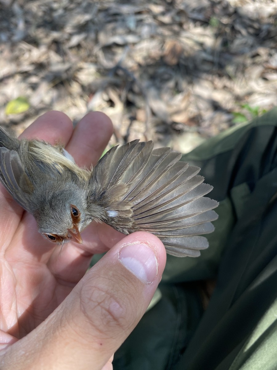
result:
[[[0,148],[0,181],[21,207],[30,211],[28,195],[34,191],[33,184],[18,153],[4,147]]]

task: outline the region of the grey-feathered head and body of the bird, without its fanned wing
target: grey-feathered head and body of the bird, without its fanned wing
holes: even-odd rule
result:
[[[37,141],[18,140],[0,128],[0,181],[13,198],[32,213],[43,235],[71,239],[75,228],[71,204],[80,204],[79,223],[87,226],[89,173],[65,157],[64,149]],[[49,239],[49,238],[48,238]]]

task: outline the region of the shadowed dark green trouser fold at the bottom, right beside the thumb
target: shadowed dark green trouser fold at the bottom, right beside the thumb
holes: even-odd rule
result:
[[[203,314],[198,290],[190,284],[159,289],[162,298],[116,352],[114,369],[170,369],[192,337]]]

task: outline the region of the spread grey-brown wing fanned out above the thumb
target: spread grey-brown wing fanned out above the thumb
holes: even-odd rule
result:
[[[212,186],[198,175],[200,168],[179,159],[170,148],[153,150],[151,141],[114,147],[93,168],[91,200],[105,208],[105,222],[114,229],[148,231],[171,255],[199,256],[208,247],[199,235],[213,231],[218,202],[204,197]]]

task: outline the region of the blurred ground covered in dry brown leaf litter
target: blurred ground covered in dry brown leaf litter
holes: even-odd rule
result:
[[[0,0],[0,124],[49,110],[188,152],[277,105],[277,0]]]

